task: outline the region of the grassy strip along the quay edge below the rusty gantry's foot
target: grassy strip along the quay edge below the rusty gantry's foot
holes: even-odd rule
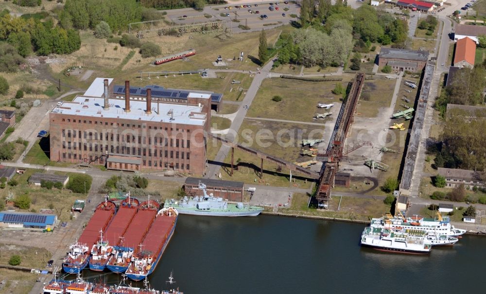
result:
[[[369,221],[371,217],[380,217],[390,212],[390,206],[382,200],[343,197],[339,210],[337,210],[341,197],[333,197],[329,201],[329,209],[307,208],[309,195],[294,193],[290,208],[279,209],[280,213],[313,215],[332,218]]]

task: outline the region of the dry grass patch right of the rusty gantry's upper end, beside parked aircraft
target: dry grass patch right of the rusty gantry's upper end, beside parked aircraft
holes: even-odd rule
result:
[[[395,80],[382,76],[377,76],[375,80],[365,81],[356,113],[367,118],[376,117],[380,107],[390,105],[395,83]],[[365,98],[367,95],[369,95],[369,100]]]

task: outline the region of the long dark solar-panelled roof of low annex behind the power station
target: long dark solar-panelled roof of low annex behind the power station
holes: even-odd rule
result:
[[[186,90],[186,89],[173,89],[164,88],[158,85],[148,85],[144,87],[130,86],[130,95],[147,97],[147,89],[151,89],[152,98],[173,98],[173,99],[187,99],[189,98],[203,98],[211,99],[211,102],[220,102],[223,98],[223,94],[218,94],[210,91],[200,90]],[[113,94],[125,95],[124,85],[113,86]]]

